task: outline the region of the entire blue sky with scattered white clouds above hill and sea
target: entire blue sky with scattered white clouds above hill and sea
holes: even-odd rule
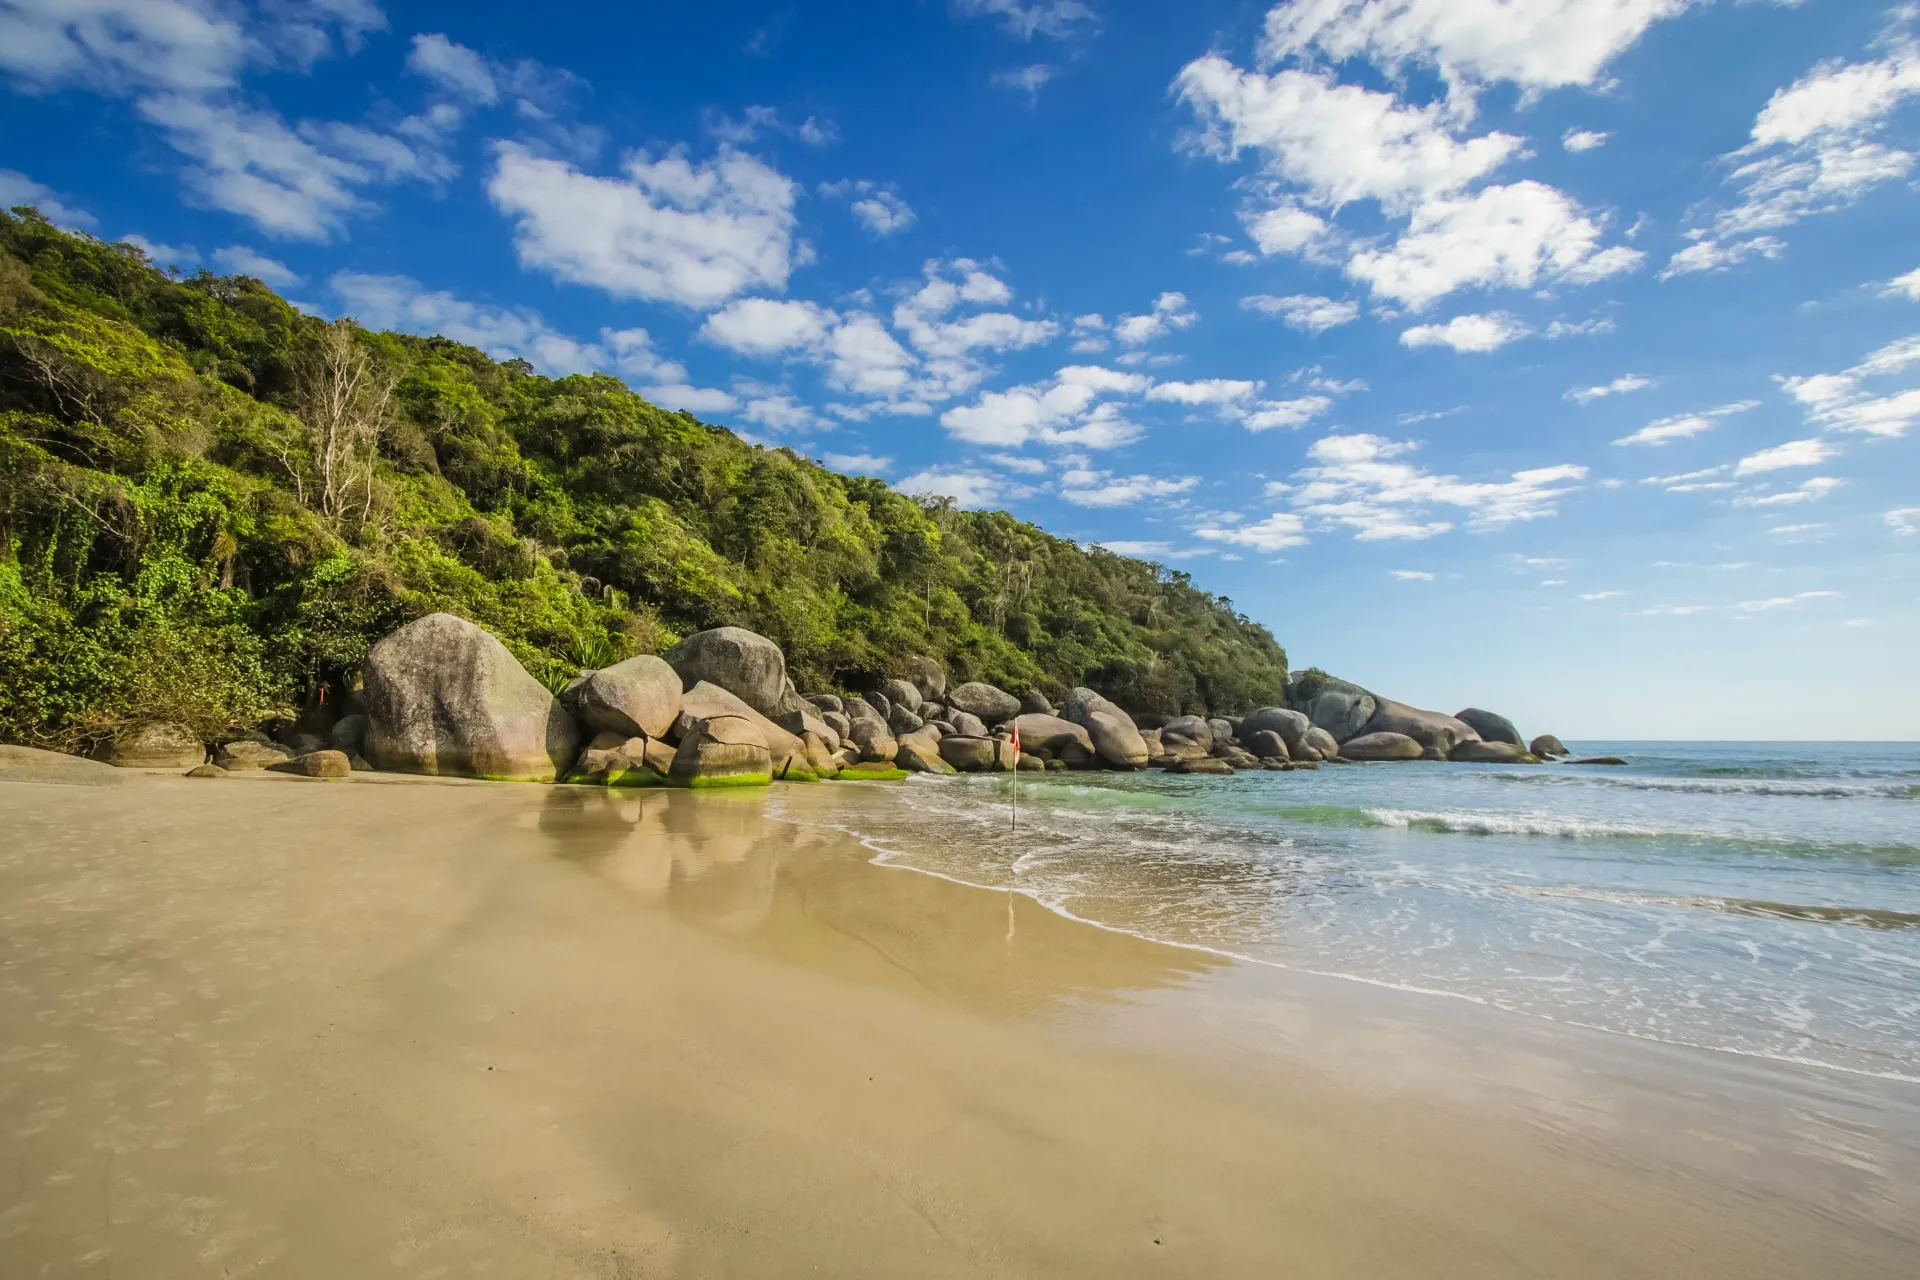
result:
[[[0,0],[0,200],[1565,737],[1916,737],[1920,15]]]

